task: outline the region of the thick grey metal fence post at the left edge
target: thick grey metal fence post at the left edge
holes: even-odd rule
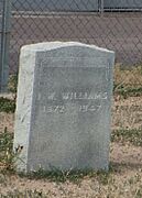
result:
[[[10,47],[10,21],[11,0],[3,0],[2,32],[0,54],[0,92],[7,92],[9,79],[9,47]]]

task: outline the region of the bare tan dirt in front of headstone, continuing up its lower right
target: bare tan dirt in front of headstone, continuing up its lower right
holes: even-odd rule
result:
[[[42,191],[48,198],[136,198],[142,195],[142,147],[112,143],[110,162],[114,173],[107,178],[85,177],[79,184],[70,182],[51,183],[46,179],[28,179],[17,175],[0,174],[0,193],[25,191],[28,189]]]

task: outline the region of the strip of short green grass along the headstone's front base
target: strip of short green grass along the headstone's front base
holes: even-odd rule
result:
[[[94,169],[72,169],[68,172],[63,172],[59,169],[54,169],[54,170],[44,170],[44,169],[39,169],[37,172],[31,172],[28,174],[24,173],[19,173],[20,177],[26,177],[29,179],[47,179],[50,182],[55,182],[55,183],[66,183],[67,180],[73,183],[73,184],[80,184],[83,179],[85,178],[97,178],[99,183],[102,185],[107,185],[110,180],[110,170],[94,170]]]

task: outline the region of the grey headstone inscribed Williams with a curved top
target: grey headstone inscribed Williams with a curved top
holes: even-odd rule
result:
[[[114,53],[76,42],[23,46],[18,170],[107,169]]]

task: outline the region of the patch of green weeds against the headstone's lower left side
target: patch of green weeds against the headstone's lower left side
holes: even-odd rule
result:
[[[7,128],[0,133],[0,167],[3,170],[14,172],[14,163],[19,153],[13,152],[13,134]]]

